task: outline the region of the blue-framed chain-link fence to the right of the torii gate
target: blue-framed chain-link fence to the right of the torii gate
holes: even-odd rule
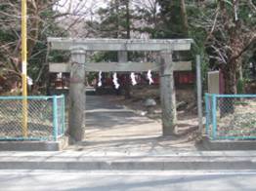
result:
[[[205,95],[210,139],[255,139],[256,95]]]

